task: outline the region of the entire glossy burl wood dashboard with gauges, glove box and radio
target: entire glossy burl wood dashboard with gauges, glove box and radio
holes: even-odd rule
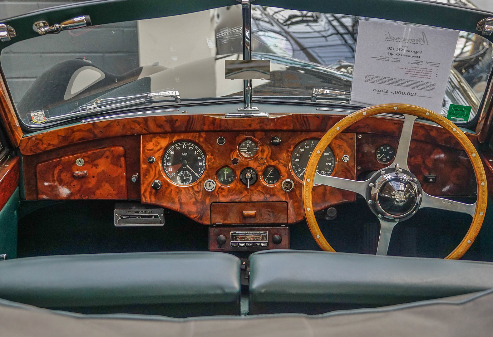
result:
[[[235,249],[233,232],[282,236],[304,219],[302,179],[311,151],[346,114],[262,104],[269,117],[226,118],[233,107],[190,106],[173,115],[147,111],[25,137],[20,151],[26,199],[140,201],[174,210],[210,226],[211,250]],[[352,125],[326,148],[317,171],[364,180],[387,167],[402,121],[383,114]],[[476,135],[466,135],[477,143]],[[476,193],[465,152],[433,123],[415,123],[408,165],[428,194]],[[323,185],[314,192],[315,211],[356,200],[354,192]],[[225,245],[215,243],[219,232],[228,234]],[[238,249],[289,247],[287,239],[268,247],[261,241]]]

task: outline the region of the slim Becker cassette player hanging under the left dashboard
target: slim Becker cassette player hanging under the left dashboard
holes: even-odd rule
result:
[[[117,208],[115,226],[163,226],[163,208]]]

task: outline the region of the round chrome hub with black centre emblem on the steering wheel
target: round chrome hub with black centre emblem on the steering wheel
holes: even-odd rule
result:
[[[387,196],[385,193],[389,189],[394,191]],[[416,176],[407,170],[392,167],[375,174],[367,191],[366,200],[372,212],[388,222],[399,222],[413,216],[423,198],[422,187]],[[388,207],[388,200],[391,200],[392,206],[400,207],[402,211],[392,211]]]

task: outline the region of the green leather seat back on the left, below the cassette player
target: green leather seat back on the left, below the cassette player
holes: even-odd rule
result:
[[[81,313],[240,314],[240,260],[217,252],[0,261],[0,298]]]

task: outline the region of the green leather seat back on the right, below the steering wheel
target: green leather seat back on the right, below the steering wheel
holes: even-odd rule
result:
[[[493,288],[493,263],[300,250],[250,260],[250,313],[322,313]]]

